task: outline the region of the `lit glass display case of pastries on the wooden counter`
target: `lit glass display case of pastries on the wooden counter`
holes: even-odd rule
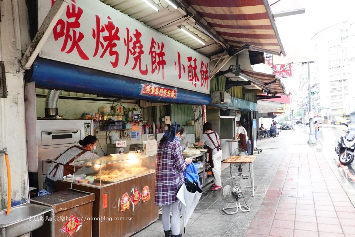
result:
[[[65,177],[65,181],[105,187],[154,173],[155,155],[129,152],[84,160],[76,158],[74,167],[74,176]]]

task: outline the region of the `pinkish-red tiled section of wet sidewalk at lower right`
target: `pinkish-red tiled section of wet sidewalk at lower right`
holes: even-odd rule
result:
[[[355,209],[321,152],[285,155],[246,237],[355,236]]]

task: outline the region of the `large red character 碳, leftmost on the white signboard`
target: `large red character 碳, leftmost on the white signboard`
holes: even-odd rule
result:
[[[84,60],[89,60],[88,56],[83,52],[82,48],[79,45],[79,43],[84,38],[84,35],[82,32],[79,31],[77,33],[75,30],[76,28],[80,27],[79,20],[82,14],[83,10],[81,9],[81,7],[77,7],[76,9],[75,0],[72,0],[71,8],[69,7],[69,5],[67,5],[66,17],[68,20],[73,19],[73,21],[64,22],[62,19],[59,19],[53,28],[53,35],[55,41],[64,36],[64,42],[62,48],[60,49],[61,52],[63,52],[67,48],[69,41],[71,41],[71,45],[65,53],[69,54],[73,52],[73,50],[76,48],[80,58]]]

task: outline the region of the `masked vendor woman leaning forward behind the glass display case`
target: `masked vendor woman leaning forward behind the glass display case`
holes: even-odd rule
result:
[[[75,157],[78,156],[77,160],[99,157],[92,153],[97,146],[97,138],[95,136],[86,136],[83,140],[79,141],[79,144],[81,147],[71,146],[55,158],[55,162],[49,167],[45,176],[44,182],[47,184],[47,192],[56,192],[56,181],[58,179],[62,180],[68,174],[73,174]],[[76,164],[77,166],[80,166],[80,164]]]

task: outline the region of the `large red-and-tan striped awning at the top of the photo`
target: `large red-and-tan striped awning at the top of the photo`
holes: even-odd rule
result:
[[[267,0],[187,1],[232,47],[285,55]]]

